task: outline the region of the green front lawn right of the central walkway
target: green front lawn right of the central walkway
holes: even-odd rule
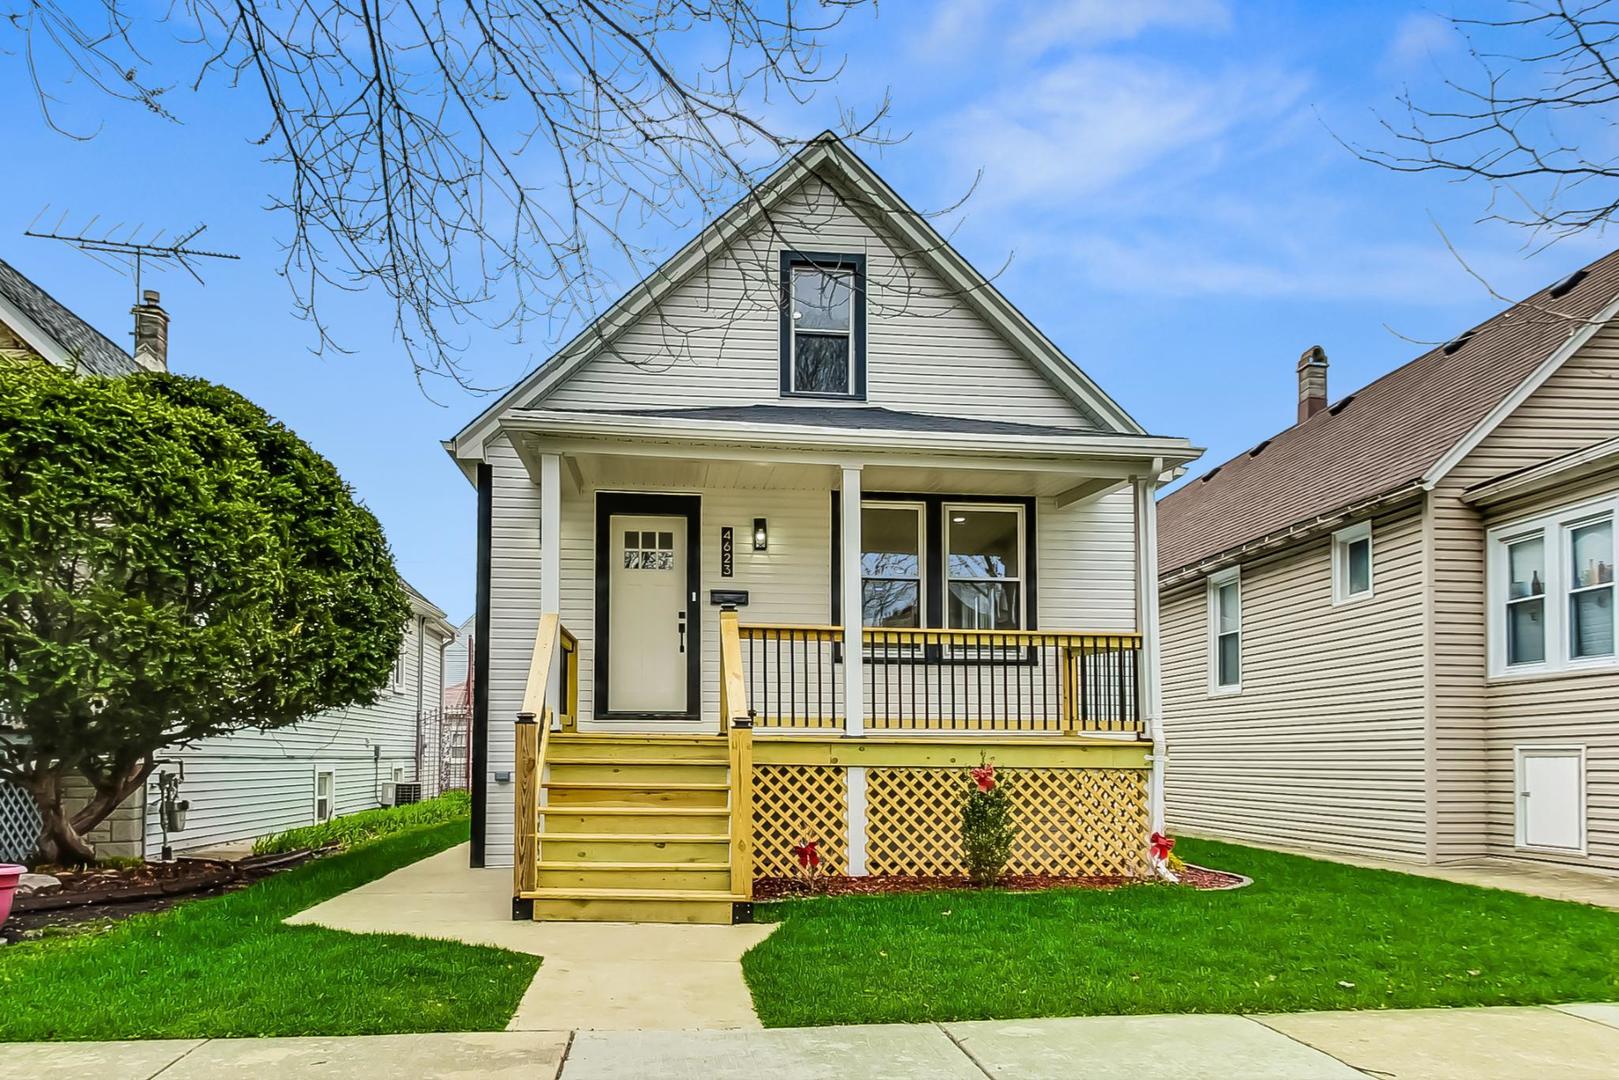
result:
[[[1183,840],[1235,892],[934,892],[761,904],[766,1027],[1619,1001],[1619,912]]]

